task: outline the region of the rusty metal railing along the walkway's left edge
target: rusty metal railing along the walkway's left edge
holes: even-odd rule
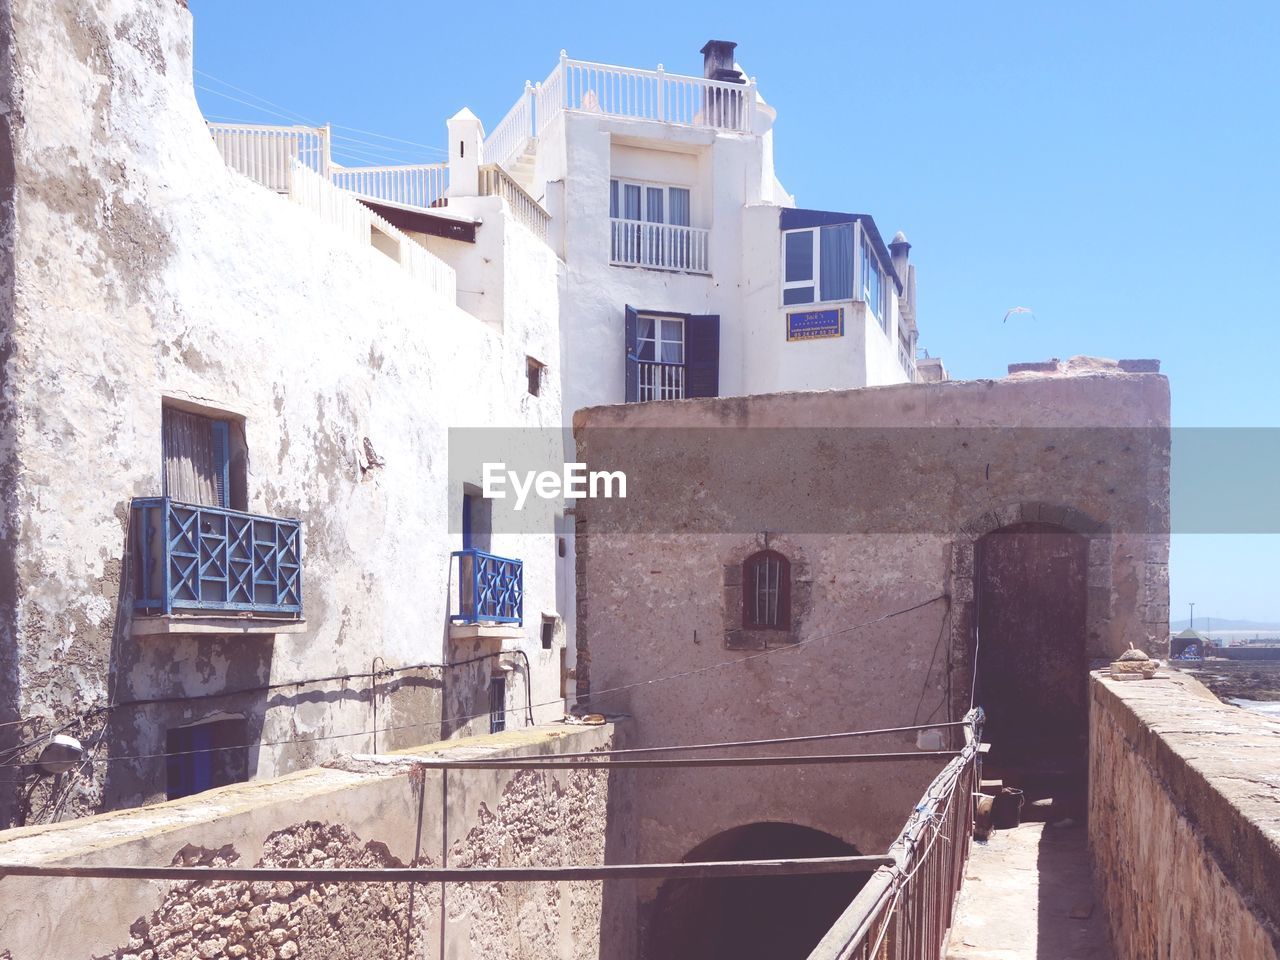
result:
[[[870,876],[809,960],[941,960],[973,836],[982,710],[965,717],[965,746],[924,791]]]

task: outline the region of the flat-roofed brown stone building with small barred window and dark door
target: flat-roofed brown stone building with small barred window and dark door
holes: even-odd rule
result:
[[[1080,815],[1088,666],[1167,637],[1169,387],[1126,366],[1151,367],[579,411],[580,458],[628,480],[625,500],[579,507],[580,703],[628,716],[620,740],[641,748],[978,703],[984,776]],[[854,741],[915,762],[637,778],[637,858],[776,855],[778,824],[815,854],[883,850],[945,732]],[[787,882],[749,901],[653,883],[640,955],[767,937],[822,897]]]

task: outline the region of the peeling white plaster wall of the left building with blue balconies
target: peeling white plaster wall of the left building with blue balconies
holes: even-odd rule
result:
[[[495,330],[225,168],[192,92],[191,17],[173,0],[15,0],[5,26],[10,12],[0,582],[15,596],[0,622],[0,712],[36,717],[29,733],[109,695],[452,658],[461,490],[447,476],[447,428],[559,426],[559,390],[532,398],[525,379],[529,353],[559,362],[554,256],[503,218],[483,228],[530,259],[524,302]],[[128,503],[160,493],[165,397],[244,417],[250,511],[303,521],[306,632],[129,636]],[[385,466],[361,470],[364,438]],[[550,516],[544,529],[494,543],[526,550],[506,556],[526,559],[532,611],[556,604]],[[558,653],[543,655],[536,623],[530,632],[516,643],[534,658],[535,699],[549,700]],[[383,685],[379,726],[417,726],[379,745],[433,740],[439,686],[436,671]],[[164,750],[165,727],[228,712],[261,741],[371,726],[367,685],[349,684],[122,710],[105,731],[77,732],[102,736],[100,756],[147,755]],[[271,776],[369,746],[264,746],[250,769]],[[163,760],[108,771],[82,778],[67,809],[163,796]]]

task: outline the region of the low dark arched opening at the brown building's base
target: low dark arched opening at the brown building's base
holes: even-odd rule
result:
[[[794,823],[718,833],[686,861],[856,856],[849,844]],[[804,960],[867,882],[867,874],[667,881],[650,914],[650,960]]]

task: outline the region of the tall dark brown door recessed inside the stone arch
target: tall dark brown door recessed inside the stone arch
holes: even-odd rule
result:
[[[977,549],[977,701],[991,744],[986,776],[1079,815],[1088,759],[1088,540],[1015,524]],[[1041,804],[1042,810],[1050,809]],[[1024,819],[1032,813],[1024,808]]]

